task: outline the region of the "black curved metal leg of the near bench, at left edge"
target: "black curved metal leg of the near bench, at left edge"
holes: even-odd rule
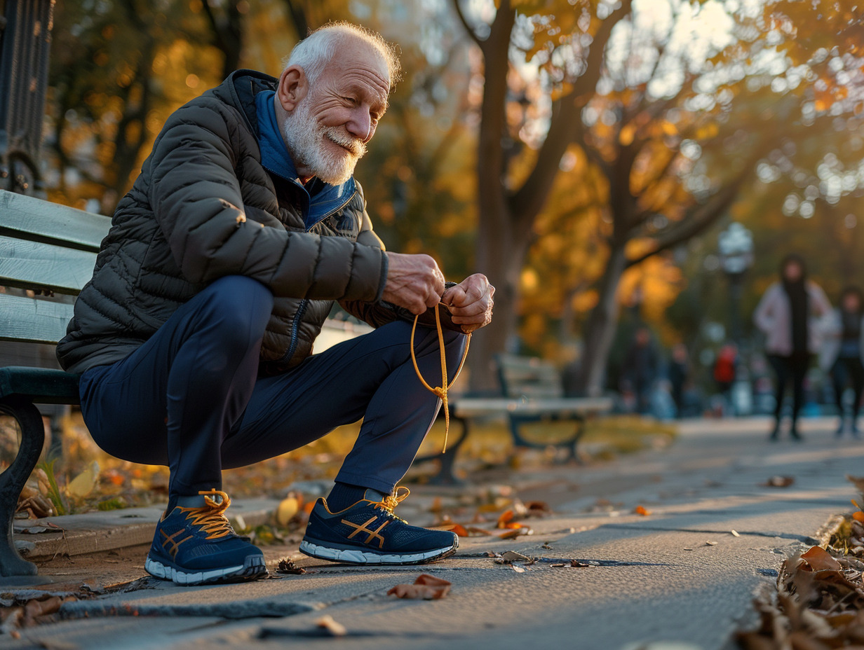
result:
[[[33,402],[20,395],[11,395],[0,401],[0,413],[11,415],[21,426],[21,446],[15,460],[0,474],[0,576],[35,576],[36,565],[23,559],[15,548],[12,520],[18,496],[45,444],[45,426]]]

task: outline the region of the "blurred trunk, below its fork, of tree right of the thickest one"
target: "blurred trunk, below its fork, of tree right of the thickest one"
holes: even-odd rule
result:
[[[606,364],[609,350],[618,325],[618,285],[627,266],[624,245],[613,243],[609,251],[606,269],[600,279],[597,306],[591,311],[585,325],[584,350],[576,381],[580,394],[599,395],[606,381]]]

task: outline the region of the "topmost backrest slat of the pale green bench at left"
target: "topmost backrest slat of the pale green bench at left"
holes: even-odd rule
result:
[[[0,190],[0,234],[98,252],[111,218]],[[92,268],[91,268],[92,271]]]

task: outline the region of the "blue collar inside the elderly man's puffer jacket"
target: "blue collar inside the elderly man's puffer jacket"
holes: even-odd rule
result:
[[[329,185],[318,178],[303,186],[276,122],[276,107],[273,105],[275,95],[275,91],[262,91],[255,96],[261,164],[270,174],[276,174],[302,190],[300,198],[303,224],[308,230],[346,205],[357,192],[357,187],[353,177],[338,186]]]

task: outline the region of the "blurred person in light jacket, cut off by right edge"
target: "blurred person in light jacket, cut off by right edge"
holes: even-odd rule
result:
[[[861,392],[864,391],[864,293],[858,287],[846,287],[840,295],[840,307],[829,316],[824,328],[825,341],[819,355],[819,365],[831,373],[837,399],[840,422],[837,436],[846,430],[843,410],[843,391],[851,381],[854,391],[849,430],[854,438],[860,437],[858,413]]]

